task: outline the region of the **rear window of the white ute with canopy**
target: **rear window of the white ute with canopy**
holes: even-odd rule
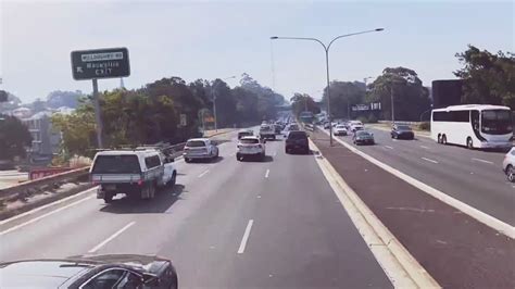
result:
[[[141,167],[138,156],[129,155],[98,155],[91,171],[93,174],[139,174]]]

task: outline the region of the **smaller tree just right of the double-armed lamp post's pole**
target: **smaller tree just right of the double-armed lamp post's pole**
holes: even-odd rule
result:
[[[330,110],[334,117],[351,118],[351,106],[361,104],[365,98],[365,84],[360,81],[331,81],[329,85]],[[327,106],[327,88],[322,98]]]

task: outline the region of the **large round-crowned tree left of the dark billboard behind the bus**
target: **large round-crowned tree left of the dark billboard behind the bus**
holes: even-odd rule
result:
[[[423,86],[415,71],[387,67],[369,86],[366,102],[380,102],[382,118],[391,120],[393,96],[394,120],[417,121],[430,108],[429,90]]]

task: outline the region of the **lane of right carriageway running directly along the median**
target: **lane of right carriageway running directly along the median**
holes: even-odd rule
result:
[[[341,139],[351,143],[351,138],[343,137]],[[441,156],[429,159],[429,156],[409,150],[404,150],[402,153],[399,148],[385,149],[382,142],[379,141],[380,139],[375,146],[360,146],[359,149],[495,218],[511,225],[515,224],[513,212],[515,204],[514,188],[511,184],[506,184],[499,169],[497,171],[499,173],[495,174],[495,171],[482,169],[472,165],[460,165]],[[414,143],[413,141],[407,142]],[[470,174],[470,172],[474,174]]]

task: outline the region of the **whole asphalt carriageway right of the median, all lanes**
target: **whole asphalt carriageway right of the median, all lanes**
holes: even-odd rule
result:
[[[376,144],[360,150],[502,222],[515,225],[515,185],[502,172],[505,152],[439,144],[427,137],[397,140],[366,127]],[[340,139],[352,143],[352,136]]]

